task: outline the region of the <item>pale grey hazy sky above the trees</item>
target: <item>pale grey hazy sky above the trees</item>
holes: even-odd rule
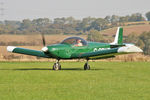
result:
[[[3,4],[1,3],[3,2]],[[150,0],[0,0],[1,20],[105,17],[150,11]]]

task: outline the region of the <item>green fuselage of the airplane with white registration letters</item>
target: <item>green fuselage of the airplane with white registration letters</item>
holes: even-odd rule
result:
[[[108,43],[88,42],[85,46],[74,46],[70,44],[54,44],[47,46],[49,52],[47,55],[58,59],[82,58],[79,54],[96,52],[110,49]]]

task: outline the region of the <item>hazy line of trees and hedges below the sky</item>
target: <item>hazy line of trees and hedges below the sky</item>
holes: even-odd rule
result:
[[[127,16],[106,16],[105,18],[86,17],[77,20],[73,17],[24,19],[22,21],[0,21],[0,34],[85,34],[90,30],[101,31],[124,25],[125,22],[150,21],[150,12],[135,13]]]

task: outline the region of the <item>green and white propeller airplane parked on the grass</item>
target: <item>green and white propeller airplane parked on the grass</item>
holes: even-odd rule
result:
[[[89,70],[88,60],[90,59],[106,59],[121,54],[143,52],[134,44],[123,43],[123,28],[121,27],[118,27],[114,42],[112,43],[87,42],[80,37],[69,37],[59,44],[45,46],[43,35],[42,39],[44,47],[41,51],[14,46],[8,46],[7,51],[37,57],[54,58],[56,63],[53,65],[53,70],[61,69],[59,63],[61,59],[86,59],[87,62],[84,65],[84,69]]]

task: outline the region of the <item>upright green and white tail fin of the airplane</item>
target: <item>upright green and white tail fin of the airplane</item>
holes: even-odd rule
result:
[[[115,36],[115,40],[114,42],[112,42],[111,44],[113,45],[122,45],[123,44],[123,28],[122,27],[118,27],[116,36]]]

